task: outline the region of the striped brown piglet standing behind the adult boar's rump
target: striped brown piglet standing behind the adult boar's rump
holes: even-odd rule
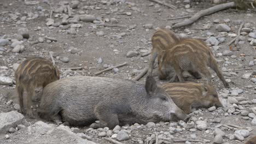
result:
[[[21,62],[15,71],[16,91],[19,96],[20,112],[24,113],[23,93],[27,92],[26,115],[34,118],[32,113],[32,97],[37,87],[45,87],[59,80],[60,72],[56,65],[42,57],[30,57]]]

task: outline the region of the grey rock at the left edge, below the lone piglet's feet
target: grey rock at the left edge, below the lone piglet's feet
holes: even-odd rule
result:
[[[0,134],[7,133],[9,128],[15,128],[24,121],[24,116],[19,112],[10,111],[0,113]]]

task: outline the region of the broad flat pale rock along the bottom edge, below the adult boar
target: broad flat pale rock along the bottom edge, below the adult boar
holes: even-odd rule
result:
[[[54,124],[46,124],[42,121],[38,121],[35,124],[30,125],[28,128],[23,128],[19,131],[19,135],[10,136],[11,141],[0,139],[0,143],[96,144],[95,142],[83,139],[82,137],[74,134],[69,127],[64,125],[55,127]]]

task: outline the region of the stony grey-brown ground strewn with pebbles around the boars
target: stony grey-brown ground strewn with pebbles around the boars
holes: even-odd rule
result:
[[[61,78],[92,76],[112,65],[127,65],[99,76],[132,79],[148,65],[150,38],[157,27],[171,28],[183,19],[213,6],[208,2],[168,1],[169,9],[147,0],[80,0],[0,2],[0,143],[244,143],[256,135],[256,13],[228,9],[202,17],[193,25],[173,29],[179,37],[200,37],[211,46],[231,88],[225,89],[212,71],[224,108],[194,110],[189,123],[159,122],[125,125],[114,130],[57,126],[19,110],[14,71],[30,56],[48,57],[53,51]],[[217,2],[217,1],[215,1]],[[51,17],[51,18],[50,18]],[[228,43],[236,38],[236,45]],[[80,67],[78,70],[71,68]],[[242,69],[232,71],[234,69]],[[157,71],[155,70],[155,74]],[[140,80],[144,82],[144,78]],[[204,79],[200,80],[204,81]],[[163,83],[165,81],[159,81]],[[40,91],[40,89],[38,89]],[[38,93],[37,95],[39,95]],[[34,114],[38,101],[33,102]],[[197,142],[186,141],[197,140]],[[199,140],[199,141],[198,141]],[[179,142],[177,142],[179,143]]]

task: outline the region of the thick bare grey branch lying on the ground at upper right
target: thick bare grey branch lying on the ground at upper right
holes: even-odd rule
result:
[[[211,8],[205,9],[205,10],[201,10],[201,11],[197,12],[195,15],[193,15],[192,17],[190,17],[189,19],[184,20],[179,23],[176,23],[172,27],[173,28],[184,27],[184,26],[194,23],[196,20],[200,19],[200,17],[202,17],[202,16],[210,15],[210,14],[216,13],[217,11],[229,9],[232,7],[235,7],[235,2],[216,5],[214,7],[211,7]]]

